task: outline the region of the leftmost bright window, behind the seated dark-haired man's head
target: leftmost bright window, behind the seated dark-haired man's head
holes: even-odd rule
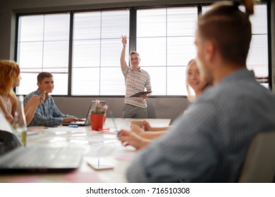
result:
[[[18,20],[18,56],[21,84],[18,94],[37,89],[37,74],[52,72],[54,94],[68,94],[70,15],[23,15]]]

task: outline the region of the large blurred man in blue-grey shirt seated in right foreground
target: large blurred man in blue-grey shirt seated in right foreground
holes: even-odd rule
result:
[[[275,96],[246,68],[253,7],[246,10],[221,2],[200,15],[197,59],[214,85],[140,150],[127,170],[129,182],[238,182],[253,136],[275,129]]]

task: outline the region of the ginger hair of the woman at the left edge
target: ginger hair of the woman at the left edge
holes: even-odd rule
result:
[[[0,94],[16,98],[13,91],[13,83],[18,80],[20,68],[15,61],[0,61]]]

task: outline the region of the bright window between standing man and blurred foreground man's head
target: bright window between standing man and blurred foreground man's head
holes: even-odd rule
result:
[[[137,51],[154,95],[187,95],[185,68],[195,58],[197,7],[138,10]]]

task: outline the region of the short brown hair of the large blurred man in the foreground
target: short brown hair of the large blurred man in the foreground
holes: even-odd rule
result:
[[[224,60],[245,65],[252,37],[249,15],[236,3],[217,3],[197,23],[202,39],[210,39]]]

